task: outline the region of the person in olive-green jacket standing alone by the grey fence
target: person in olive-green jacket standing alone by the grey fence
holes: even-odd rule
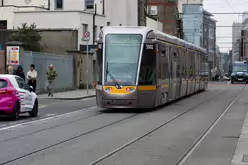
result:
[[[52,96],[54,94],[54,81],[55,78],[57,77],[57,72],[53,66],[53,64],[50,64],[48,71],[46,72],[46,77],[47,77],[47,91],[48,91],[48,97]]]

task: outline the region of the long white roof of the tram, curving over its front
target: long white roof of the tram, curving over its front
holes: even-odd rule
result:
[[[146,36],[149,32],[153,31],[155,33],[156,39],[164,40],[172,44],[180,45],[183,47],[187,47],[193,50],[198,50],[206,53],[205,49],[197,45],[194,45],[175,36],[145,26],[106,26],[102,30],[104,33],[129,33],[129,34],[140,33],[144,36]]]

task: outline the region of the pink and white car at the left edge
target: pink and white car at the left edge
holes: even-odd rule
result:
[[[19,119],[20,113],[38,115],[38,97],[19,76],[0,74],[0,115]]]

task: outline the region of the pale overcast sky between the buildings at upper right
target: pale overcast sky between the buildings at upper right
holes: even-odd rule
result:
[[[248,11],[248,0],[204,0],[204,9],[211,13],[242,13]],[[240,14],[214,14],[217,22],[216,36],[217,45],[221,51],[232,49],[232,23],[241,22],[243,16]]]

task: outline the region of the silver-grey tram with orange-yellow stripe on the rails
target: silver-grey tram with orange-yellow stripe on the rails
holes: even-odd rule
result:
[[[148,27],[104,27],[97,39],[96,102],[101,108],[154,108],[204,91],[207,53]]]

